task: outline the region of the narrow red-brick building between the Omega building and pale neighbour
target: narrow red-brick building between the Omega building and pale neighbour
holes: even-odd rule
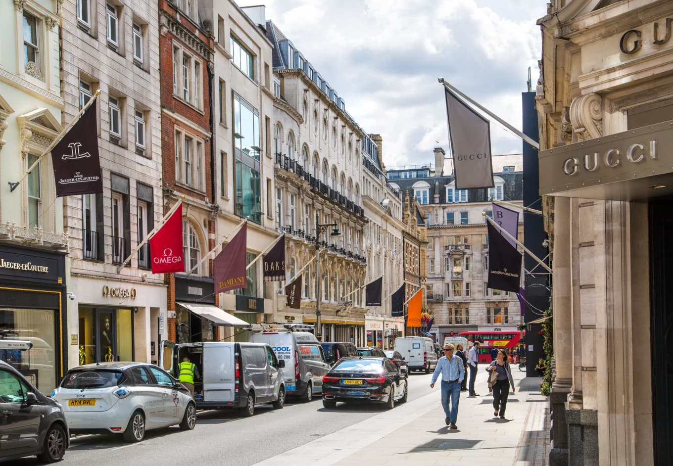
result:
[[[166,274],[170,340],[217,340],[199,308],[217,305],[212,260],[215,246],[209,67],[213,35],[201,27],[195,2],[159,1],[164,212],[182,196],[183,254],[191,274]],[[182,303],[182,305],[178,304]]]

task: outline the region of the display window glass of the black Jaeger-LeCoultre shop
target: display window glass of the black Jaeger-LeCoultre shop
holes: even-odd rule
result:
[[[30,350],[0,349],[0,360],[9,362],[43,393],[56,386],[57,311],[44,309],[1,309],[0,339],[27,340]]]

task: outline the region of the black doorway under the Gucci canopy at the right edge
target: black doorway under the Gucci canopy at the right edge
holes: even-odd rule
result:
[[[654,457],[673,464],[673,197],[649,205],[649,280]]]

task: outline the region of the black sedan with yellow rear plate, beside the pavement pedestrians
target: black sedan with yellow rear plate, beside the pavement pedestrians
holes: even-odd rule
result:
[[[322,405],[330,408],[337,401],[404,403],[409,393],[406,374],[388,358],[343,358],[322,377]]]

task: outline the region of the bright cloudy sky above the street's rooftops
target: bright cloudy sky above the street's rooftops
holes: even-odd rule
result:
[[[263,1],[263,0],[262,0]],[[260,5],[239,0],[238,5]],[[386,167],[434,163],[450,153],[444,87],[454,85],[521,129],[528,67],[535,89],[546,0],[265,0],[272,20],[383,137]],[[521,139],[491,122],[493,155],[521,153]]]

